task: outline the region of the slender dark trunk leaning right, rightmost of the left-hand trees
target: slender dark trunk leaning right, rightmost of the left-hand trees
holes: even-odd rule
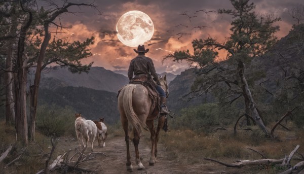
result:
[[[41,79],[41,71],[42,71],[42,62],[46,53],[47,46],[51,39],[51,34],[49,33],[49,25],[45,24],[45,38],[41,45],[39,57],[37,59],[37,67],[35,72],[35,80],[34,85],[31,86],[30,91],[30,121],[29,121],[29,128],[28,128],[28,136],[29,140],[34,140],[35,138],[35,120],[36,120],[36,109],[37,109],[37,98],[38,98],[38,90],[39,90],[39,83]]]

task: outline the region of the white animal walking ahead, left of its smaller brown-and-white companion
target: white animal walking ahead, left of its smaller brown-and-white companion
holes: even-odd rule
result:
[[[92,145],[92,152],[93,143],[97,133],[96,124],[92,120],[86,120],[85,118],[81,117],[81,114],[75,114],[75,131],[78,139],[79,146],[83,148],[83,151],[87,148],[89,140],[91,140]],[[86,140],[86,146],[84,144],[83,138]],[[81,141],[82,144],[81,145]]]

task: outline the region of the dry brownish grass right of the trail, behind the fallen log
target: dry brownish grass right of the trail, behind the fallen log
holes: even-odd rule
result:
[[[259,128],[253,131],[220,130],[213,133],[202,133],[193,130],[171,130],[162,132],[160,143],[175,157],[176,161],[194,164],[206,163],[203,158],[221,159],[232,163],[236,160],[254,160],[262,157],[247,148],[252,148],[268,158],[281,159],[289,155],[294,145],[300,145],[298,152],[304,152],[304,130],[286,131],[276,129],[277,140],[268,140]],[[208,161],[209,162],[209,161]],[[296,161],[292,161],[295,164]]]

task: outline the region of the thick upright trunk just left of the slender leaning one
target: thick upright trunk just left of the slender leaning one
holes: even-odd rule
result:
[[[20,33],[17,53],[17,86],[16,88],[16,141],[27,146],[27,120],[26,120],[26,78],[27,59],[23,59],[25,32]]]

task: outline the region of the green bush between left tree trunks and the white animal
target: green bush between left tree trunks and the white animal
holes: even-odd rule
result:
[[[71,107],[43,105],[37,108],[36,128],[47,136],[74,132],[75,112]]]

